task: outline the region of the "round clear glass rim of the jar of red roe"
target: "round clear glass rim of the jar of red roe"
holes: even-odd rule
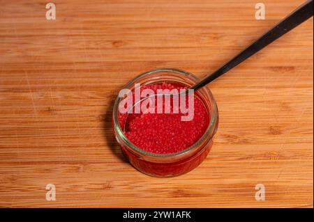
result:
[[[137,83],[137,81],[139,79],[142,79],[142,77],[146,77],[149,74],[154,74],[156,72],[172,72],[172,73],[177,73],[177,74],[183,74],[186,77],[192,77],[193,81],[195,81],[195,83],[197,81],[200,81],[200,78],[196,77],[195,74],[192,74],[190,72],[186,72],[184,70],[179,70],[179,69],[174,69],[174,68],[158,68],[155,70],[150,70],[148,72],[144,72],[142,74],[137,75],[137,77],[133,78],[132,80],[130,80],[123,88],[130,88],[130,86],[134,86],[135,83]],[[121,126],[119,124],[119,103],[121,102],[121,97],[119,97],[119,95],[117,96],[115,102],[114,102],[114,109],[113,109],[113,127],[114,127],[114,132],[116,134],[116,138],[118,140],[118,142],[123,141],[128,148],[131,148],[132,150],[129,150],[130,152],[134,151],[138,154],[142,154],[142,155],[147,155],[149,157],[179,157],[181,155],[184,155],[188,152],[191,152],[192,150],[196,150],[200,144],[202,144],[207,136],[209,136],[209,133],[212,132],[213,127],[216,127],[215,122],[218,121],[218,108],[217,108],[217,104],[216,104],[216,100],[214,99],[214,96],[211,93],[211,90],[209,90],[209,88],[207,88],[206,86],[204,86],[203,88],[206,89],[206,93],[208,93],[211,101],[212,102],[212,113],[210,115],[210,121],[209,121],[209,125],[207,127],[207,129],[205,130],[204,134],[195,142],[193,143],[193,145],[190,145],[190,147],[181,150],[179,152],[173,152],[173,153],[168,153],[168,154],[158,154],[158,153],[154,153],[154,152],[147,152],[145,150],[142,150],[141,148],[138,148],[136,145],[134,145],[124,134],[124,131],[121,129]],[[116,130],[117,129],[117,130]],[[211,138],[214,136],[214,134],[216,133],[216,129],[214,130],[214,133],[211,134],[209,140],[211,140]],[[121,137],[118,138],[117,134]]]

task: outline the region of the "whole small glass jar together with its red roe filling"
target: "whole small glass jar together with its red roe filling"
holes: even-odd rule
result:
[[[124,156],[138,171],[154,177],[174,177],[192,171],[207,157],[213,145],[213,136],[216,134],[219,118],[216,101],[209,88],[200,88],[195,92],[194,97],[186,96],[185,100],[182,98],[186,106],[181,106],[184,103],[181,102],[180,96],[179,110],[178,106],[174,106],[178,102],[174,100],[174,96],[158,95],[154,98],[161,97],[161,103],[159,100],[156,104],[155,100],[157,107],[154,105],[147,107],[151,108],[150,112],[123,114],[132,107],[130,95],[134,104],[135,98],[137,102],[140,100],[139,97],[145,97],[141,94],[144,94],[143,90],[146,88],[158,94],[160,93],[158,89],[167,93],[165,89],[185,89],[199,81],[200,79],[194,74],[184,70],[163,68],[140,74],[128,82],[123,91],[120,91],[120,93],[126,92],[124,94],[126,97],[122,98],[119,95],[114,102],[112,129]],[[140,90],[137,90],[137,84],[141,84]],[[138,93],[141,90],[142,93]],[[124,100],[125,98],[127,100]],[[190,100],[191,98],[194,102]],[[149,99],[144,101],[148,103],[141,102],[140,109],[143,109],[142,106],[145,108],[145,104],[151,105]],[[192,119],[190,104],[194,105]],[[154,112],[155,109],[160,111],[160,108],[167,108],[167,111],[170,108],[170,112],[163,112],[163,114]],[[187,113],[185,108],[188,108]],[[183,120],[181,117],[185,120],[188,118],[190,121],[181,121]]]

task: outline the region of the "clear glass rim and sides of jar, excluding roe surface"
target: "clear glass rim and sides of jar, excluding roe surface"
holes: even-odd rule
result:
[[[144,72],[128,82],[124,88],[134,90],[135,84],[147,85],[161,82],[189,87],[198,81],[200,79],[189,72],[165,68]],[[214,96],[206,86],[195,91],[195,96],[200,98],[209,113],[209,126],[196,143],[185,150],[170,154],[146,152],[128,140],[119,125],[119,103],[122,98],[117,97],[112,114],[112,128],[125,157],[138,171],[154,177],[174,177],[193,170],[207,157],[218,127],[218,108]]]

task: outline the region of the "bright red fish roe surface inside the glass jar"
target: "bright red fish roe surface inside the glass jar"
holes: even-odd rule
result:
[[[179,84],[151,84],[141,86],[141,91],[145,88],[154,90],[185,88]],[[134,92],[133,92],[134,95]],[[186,98],[187,103],[187,98]],[[163,105],[165,102],[163,101]],[[201,100],[194,98],[194,118],[190,121],[181,121],[182,113],[140,113],[119,114],[119,123],[126,129],[124,134],[138,148],[156,154],[170,154],[184,150],[198,141],[209,125],[209,113]]]

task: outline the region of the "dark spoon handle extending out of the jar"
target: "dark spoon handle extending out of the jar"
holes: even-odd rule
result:
[[[271,28],[269,31],[267,31],[267,33],[262,35],[255,42],[253,42],[253,44],[249,45],[246,49],[237,54],[237,56],[234,56],[232,60],[225,63],[225,65],[218,68],[218,70],[216,70],[212,74],[209,74],[199,83],[190,87],[190,89],[197,90],[198,88],[201,88],[202,86],[209,84],[214,79],[217,79],[222,74],[225,74],[225,72],[231,70],[239,63],[245,61],[246,58],[249,58],[253,54],[257,53],[257,51],[260,51],[260,49],[263,49],[271,42],[274,42],[274,40],[281,37],[281,35],[284,35],[288,31],[294,29],[296,26],[298,26],[299,24],[306,21],[312,16],[313,16],[313,0],[306,1],[306,3],[304,3],[299,8],[294,10],[292,13],[290,13],[290,15],[285,17],[285,19],[281,20],[281,22],[276,24],[276,26]]]

